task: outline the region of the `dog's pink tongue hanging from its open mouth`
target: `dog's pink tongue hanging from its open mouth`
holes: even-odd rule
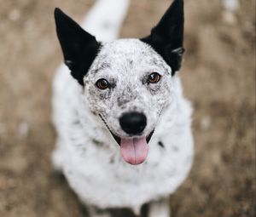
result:
[[[143,163],[148,156],[146,137],[121,138],[121,155],[125,162],[132,165]]]

